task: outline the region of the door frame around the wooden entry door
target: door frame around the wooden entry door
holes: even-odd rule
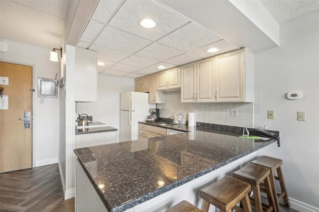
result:
[[[37,93],[37,82],[36,82],[36,77],[35,77],[35,65],[33,64],[26,64],[26,63],[21,63],[21,62],[17,62],[17,61],[10,61],[10,60],[2,60],[0,59],[0,62],[3,63],[10,63],[10,64],[16,64],[16,65],[22,65],[22,66],[30,66],[32,67],[32,88],[35,89],[35,91],[32,92],[32,117],[34,116],[34,105],[35,105],[35,93]],[[35,135],[35,131],[34,131],[34,122],[33,122],[33,118],[32,118],[32,167],[35,167],[35,143],[34,143],[34,135]]]

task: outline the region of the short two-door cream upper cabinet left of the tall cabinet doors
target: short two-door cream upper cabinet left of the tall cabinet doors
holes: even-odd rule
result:
[[[157,90],[180,88],[180,67],[157,73]]]

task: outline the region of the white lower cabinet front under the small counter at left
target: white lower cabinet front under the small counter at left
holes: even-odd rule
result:
[[[83,148],[115,142],[116,131],[75,135],[75,148]]]

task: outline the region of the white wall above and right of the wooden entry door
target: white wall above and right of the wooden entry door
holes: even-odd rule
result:
[[[49,61],[51,49],[44,49],[13,41],[7,43],[8,51],[0,53],[5,62],[33,66],[33,165],[57,163],[59,153],[59,98],[44,98],[40,104],[37,97],[37,78],[54,78],[59,65]],[[57,88],[59,89],[59,88]]]

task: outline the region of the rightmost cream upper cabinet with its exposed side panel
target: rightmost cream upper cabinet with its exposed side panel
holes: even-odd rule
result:
[[[215,56],[216,102],[254,101],[254,53],[247,48]]]

